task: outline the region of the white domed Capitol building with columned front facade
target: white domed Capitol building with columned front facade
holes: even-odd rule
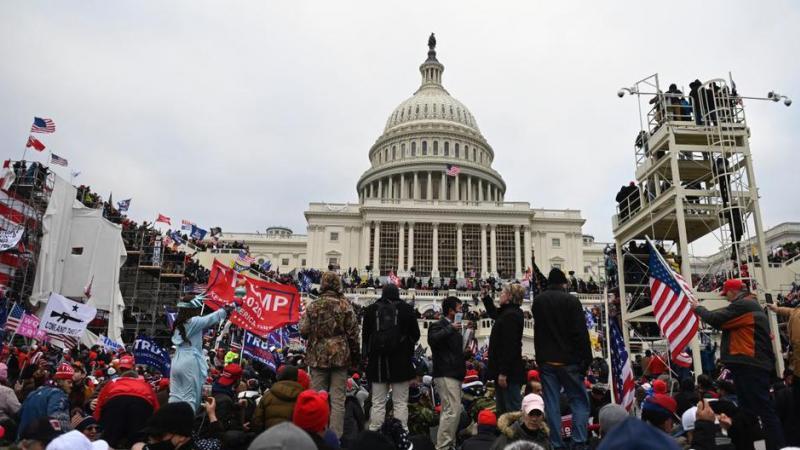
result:
[[[307,235],[271,227],[266,234],[226,232],[223,240],[244,241],[254,258],[281,272],[337,265],[364,273],[369,266],[373,275],[403,277],[413,268],[423,278],[519,279],[535,256],[545,273],[559,267],[597,280],[604,244],[583,235],[580,211],[506,201],[494,149],[442,84],[433,35],[428,48],[419,88],[389,114],[369,149],[358,203],[311,203]]]

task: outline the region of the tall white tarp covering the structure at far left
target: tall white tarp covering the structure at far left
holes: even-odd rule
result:
[[[89,304],[109,312],[108,337],[122,342],[122,310],[119,270],[127,253],[122,228],[103,217],[100,209],[85,207],[75,199],[77,190],[56,176],[42,227],[39,263],[31,302],[47,302],[51,292],[85,298],[91,283]]]

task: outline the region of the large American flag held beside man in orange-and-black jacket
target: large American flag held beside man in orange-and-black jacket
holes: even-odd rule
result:
[[[694,299],[689,285],[664,261],[653,243],[650,246],[650,299],[661,333],[669,342],[675,360],[697,334],[699,321],[692,312]]]

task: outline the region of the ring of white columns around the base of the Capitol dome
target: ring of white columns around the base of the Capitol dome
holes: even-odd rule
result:
[[[434,191],[433,185],[436,181],[438,186]],[[483,178],[464,174],[448,176],[443,171],[422,171],[382,177],[364,185],[359,196],[362,201],[368,198],[388,198],[501,202],[504,198],[498,186]]]

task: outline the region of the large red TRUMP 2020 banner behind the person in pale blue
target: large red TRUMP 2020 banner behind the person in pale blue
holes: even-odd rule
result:
[[[239,280],[245,281],[246,293],[240,301],[241,308],[231,314],[234,325],[266,337],[272,330],[300,320],[301,299],[297,288],[237,274],[216,259],[208,278],[206,306],[216,310],[233,301]]]

